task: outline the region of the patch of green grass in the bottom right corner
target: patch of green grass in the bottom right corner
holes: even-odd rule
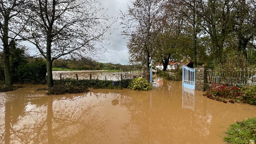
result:
[[[224,141],[229,144],[249,144],[250,140],[256,141],[256,118],[248,118],[230,125]]]

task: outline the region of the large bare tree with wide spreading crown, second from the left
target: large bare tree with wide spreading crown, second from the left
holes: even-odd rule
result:
[[[35,45],[46,59],[47,85],[53,87],[52,64],[61,56],[90,57],[105,51],[104,34],[113,21],[99,3],[91,0],[35,0],[27,27]]]

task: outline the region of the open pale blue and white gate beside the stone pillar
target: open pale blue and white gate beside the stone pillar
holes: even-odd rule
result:
[[[195,90],[195,68],[182,66],[182,86]]]

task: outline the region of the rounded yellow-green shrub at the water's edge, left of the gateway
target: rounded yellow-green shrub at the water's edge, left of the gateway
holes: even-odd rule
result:
[[[152,87],[151,83],[140,77],[133,79],[132,82],[129,84],[128,88],[131,88],[133,90],[150,90]]]

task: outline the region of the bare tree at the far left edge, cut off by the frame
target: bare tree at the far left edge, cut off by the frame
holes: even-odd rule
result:
[[[21,38],[24,26],[28,18],[22,15],[27,9],[28,0],[0,0],[0,49],[4,55],[5,85],[12,85],[12,75],[10,67],[11,45]]]

